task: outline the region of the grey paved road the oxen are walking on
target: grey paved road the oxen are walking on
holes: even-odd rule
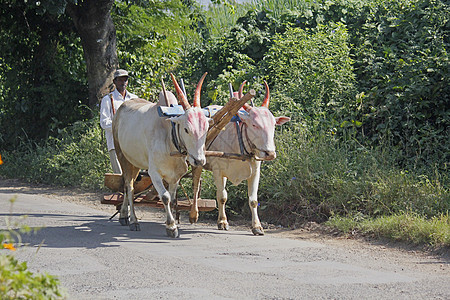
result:
[[[142,213],[139,232],[108,221],[110,214],[0,188],[0,228],[6,218],[43,227],[11,253],[32,271],[56,275],[69,299],[450,299],[444,257],[346,240],[255,237],[186,217],[181,237],[170,239],[161,213]]]

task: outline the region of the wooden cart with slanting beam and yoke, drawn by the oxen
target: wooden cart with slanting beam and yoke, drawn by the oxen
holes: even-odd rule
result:
[[[165,87],[163,84],[163,91],[165,92]],[[208,130],[207,134],[207,144],[210,144],[220,133],[221,130],[232,120],[232,118],[237,115],[239,109],[251,100],[256,95],[254,90],[250,90],[247,94],[245,94],[240,99],[233,96],[231,92],[231,98],[229,102],[218,111],[210,111],[205,110],[204,113],[207,117],[211,117],[213,119],[213,126],[211,126]],[[167,99],[167,96],[165,96]],[[179,115],[181,112],[176,106],[161,106],[159,108],[161,117],[173,117]],[[176,138],[175,138],[176,140]],[[183,156],[184,153],[182,151],[172,152],[171,156]],[[247,154],[241,153],[225,153],[221,151],[206,151],[206,156],[213,157],[221,157],[228,159],[238,159],[238,160],[246,160],[250,157]],[[183,178],[192,177],[191,173],[186,174]],[[123,191],[124,191],[124,182],[123,178],[120,174],[112,174],[106,173],[104,179],[104,185],[109,188],[113,193],[104,194],[101,199],[102,204],[115,205],[117,211],[110,217],[110,219],[114,218],[122,207],[123,203]],[[195,205],[198,208],[198,211],[212,211],[217,208],[216,200],[214,199],[196,199],[196,203],[189,198],[187,193],[184,191],[183,185],[180,184],[185,197],[177,197],[177,201],[175,204],[176,211],[176,219],[179,221],[179,212],[182,210],[192,210],[192,206]],[[152,184],[152,180],[147,172],[141,171],[137,180],[134,182],[134,200],[133,203],[136,206],[147,206],[147,207],[156,207],[156,208],[164,208],[164,204],[159,199],[158,193]]]

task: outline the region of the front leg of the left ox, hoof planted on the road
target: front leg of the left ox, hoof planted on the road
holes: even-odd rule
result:
[[[150,178],[152,179],[153,186],[155,187],[156,191],[158,191],[159,199],[161,199],[162,203],[164,204],[164,209],[166,210],[166,233],[169,237],[177,238],[179,237],[178,233],[178,227],[175,224],[175,219],[172,215],[172,210],[170,208],[171,204],[171,195],[170,192],[166,190],[163,180],[159,173],[154,170],[153,168],[148,169],[148,174],[150,175]],[[170,188],[169,184],[169,190]],[[175,184],[175,191],[176,191],[176,184]]]

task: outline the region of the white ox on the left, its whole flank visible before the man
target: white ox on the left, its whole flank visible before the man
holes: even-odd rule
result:
[[[173,75],[170,75],[185,110],[183,115],[170,119],[160,117],[159,104],[133,99],[124,102],[117,110],[112,128],[117,158],[124,179],[124,201],[120,209],[120,223],[129,225],[131,230],[140,230],[134,212],[133,182],[140,169],[148,169],[148,174],[166,210],[167,235],[178,237],[178,228],[170,204],[175,201],[179,180],[188,170],[186,156],[193,166],[203,166],[206,162],[205,139],[209,123],[200,108],[200,90],[206,73],[197,85],[193,107],[181,92]],[[179,141],[178,148],[173,142],[173,128]],[[186,156],[170,155],[177,150],[184,150]],[[169,190],[166,190],[163,180],[169,184]]]

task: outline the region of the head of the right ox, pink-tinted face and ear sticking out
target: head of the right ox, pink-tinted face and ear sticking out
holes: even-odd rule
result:
[[[239,87],[238,96],[242,98],[242,90],[246,81]],[[283,125],[289,122],[289,117],[274,117],[269,111],[270,92],[269,86],[264,81],[266,94],[260,107],[244,104],[243,108],[248,114],[240,114],[242,122],[246,125],[244,140],[247,140],[252,152],[260,159],[273,160],[276,158],[275,152],[275,125]]]

